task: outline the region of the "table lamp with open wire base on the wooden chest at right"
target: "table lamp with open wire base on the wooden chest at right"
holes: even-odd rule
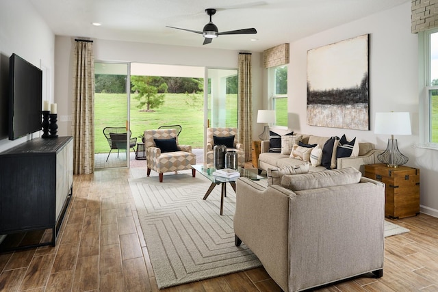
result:
[[[411,135],[411,118],[409,113],[385,112],[376,113],[374,133],[391,135],[385,152],[377,155],[378,161],[389,168],[397,168],[408,162],[408,157],[398,150],[397,139],[394,135]]]

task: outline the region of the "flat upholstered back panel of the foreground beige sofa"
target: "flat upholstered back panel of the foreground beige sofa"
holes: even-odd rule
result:
[[[385,185],[295,191],[289,198],[289,291],[383,269]]]

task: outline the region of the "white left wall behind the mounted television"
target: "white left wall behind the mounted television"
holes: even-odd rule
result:
[[[0,55],[1,64],[8,62],[12,53],[16,53],[34,66],[48,68],[48,97],[53,101],[53,54],[55,52],[55,36],[27,0],[0,1]],[[2,70],[5,68],[2,68]],[[0,82],[3,82],[3,78]],[[0,84],[3,88],[5,84]],[[1,90],[0,90],[1,92]],[[5,117],[0,117],[1,119]],[[18,140],[10,141],[8,137],[0,140],[0,151],[21,144],[40,133],[27,135]]]

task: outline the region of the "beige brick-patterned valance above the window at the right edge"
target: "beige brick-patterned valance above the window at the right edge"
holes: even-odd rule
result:
[[[411,32],[438,27],[438,0],[412,0]]]

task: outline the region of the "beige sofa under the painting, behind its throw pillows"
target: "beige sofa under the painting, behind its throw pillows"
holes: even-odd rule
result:
[[[329,140],[329,137],[320,137],[316,135],[296,134],[302,136],[302,143],[304,144],[318,144],[322,148],[324,143]],[[269,168],[284,168],[289,165],[298,165],[302,161],[290,158],[289,155],[281,155],[281,153],[268,152],[269,140],[261,142],[261,153],[258,160],[259,172],[267,171]],[[336,159],[336,168],[348,168],[352,166],[365,174],[365,164],[379,163],[377,155],[383,150],[376,150],[372,143],[359,143],[359,156],[357,157],[342,157]],[[326,170],[324,166],[310,166],[309,172],[319,172]]]

